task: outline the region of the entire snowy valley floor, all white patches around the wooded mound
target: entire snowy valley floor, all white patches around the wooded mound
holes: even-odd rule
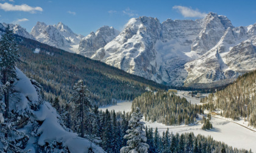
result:
[[[182,95],[178,92],[177,95]],[[192,98],[192,97],[186,97],[188,101],[191,101],[191,103],[197,103],[199,104],[199,100]],[[131,110],[132,101],[119,101],[117,105],[115,106],[106,106],[101,107],[102,110],[115,110],[116,112],[125,110],[126,112]],[[199,116],[201,118],[202,115]],[[216,118],[218,117],[218,118]],[[151,123],[146,121],[146,126],[148,127],[155,127],[158,128],[158,131],[160,134],[162,134],[163,131],[166,131],[167,128],[169,128],[169,132],[173,132],[176,134],[176,132],[179,132],[179,134],[185,133],[185,132],[194,132],[195,135],[201,134],[201,135],[211,135],[214,140],[217,141],[223,141],[224,143],[228,144],[229,146],[233,146],[233,148],[244,148],[244,149],[252,149],[252,152],[256,152],[256,129],[247,129],[247,123],[243,120],[240,121],[232,121],[228,118],[222,118],[220,116],[212,117],[211,123],[213,124],[213,129],[210,131],[204,131],[202,130],[202,124],[198,123],[196,125],[186,126],[166,126],[161,123]],[[238,124],[236,124],[238,123]],[[244,127],[245,126],[245,127]]]

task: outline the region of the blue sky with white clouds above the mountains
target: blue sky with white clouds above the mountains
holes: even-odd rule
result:
[[[256,22],[256,1],[83,1],[0,0],[0,22],[20,24],[28,32],[37,21],[63,22],[75,33],[88,35],[102,25],[122,30],[130,18],[152,16],[160,22],[171,19],[203,18],[209,12],[226,15],[234,26]]]

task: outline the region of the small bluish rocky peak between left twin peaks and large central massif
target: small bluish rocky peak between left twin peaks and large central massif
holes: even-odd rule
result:
[[[118,34],[118,30],[108,26],[101,27],[96,33],[91,32],[90,35],[86,36],[80,41],[79,54],[90,58],[96,52],[96,50],[104,47]]]

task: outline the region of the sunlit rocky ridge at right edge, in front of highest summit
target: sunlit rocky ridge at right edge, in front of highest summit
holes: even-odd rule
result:
[[[236,78],[256,68],[255,25],[229,27],[212,49],[185,64],[185,86]],[[218,56],[215,56],[218,52]],[[230,81],[230,80],[229,80]]]

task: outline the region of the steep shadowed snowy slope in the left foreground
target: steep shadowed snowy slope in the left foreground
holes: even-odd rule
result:
[[[47,101],[41,98],[41,87],[35,80],[29,80],[16,69],[18,81],[14,83],[15,92],[10,95],[10,112],[18,116],[16,129],[28,136],[25,151],[44,152],[88,152],[92,146],[94,152],[104,152],[102,148],[73,132],[66,131],[60,115]],[[5,119],[5,122],[8,122]],[[4,135],[0,132],[0,135]],[[0,146],[3,144],[0,142]],[[0,147],[1,148],[1,147]],[[0,149],[1,150],[1,149]]]

